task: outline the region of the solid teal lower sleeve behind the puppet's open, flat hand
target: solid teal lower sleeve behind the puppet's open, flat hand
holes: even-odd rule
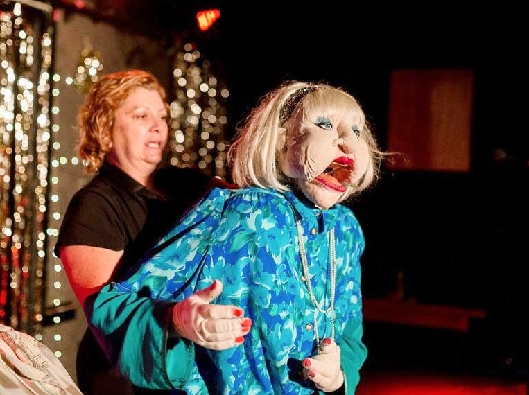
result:
[[[118,292],[111,285],[96,295],[93,304],[85,304],[89,324],[107,356],[138,387],[183,387],[196,368],[193,344],[168,339],[172,306],[168,301]]]

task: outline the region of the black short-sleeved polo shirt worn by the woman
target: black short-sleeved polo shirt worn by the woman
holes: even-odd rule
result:
[[[66,245],[124,250],[125,267],[116,272],[121,277],[211,187],[211,179],[190,168],[161,168],[155,185],[164,191],[162,199],[105,163],[71,198],[54,252],[59,256],[59,248]]]

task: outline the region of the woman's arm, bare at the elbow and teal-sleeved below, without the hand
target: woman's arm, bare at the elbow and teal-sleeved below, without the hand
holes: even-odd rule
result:
[[[194,351],[191,342],[176,338],[168,345],[174,303],[157,303],[109,285],[123,250],[69,245],[59,251],[71,288],[112,365],[140,387],[181,386],[189,377]],[[177,373],[169,378],[166,363],[173,360],[178,363],[171,371]]]

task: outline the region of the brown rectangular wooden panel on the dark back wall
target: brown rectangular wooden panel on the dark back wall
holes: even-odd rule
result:
[[[469,171],[473,91],[471,70],[392,71],[388,168]]]

